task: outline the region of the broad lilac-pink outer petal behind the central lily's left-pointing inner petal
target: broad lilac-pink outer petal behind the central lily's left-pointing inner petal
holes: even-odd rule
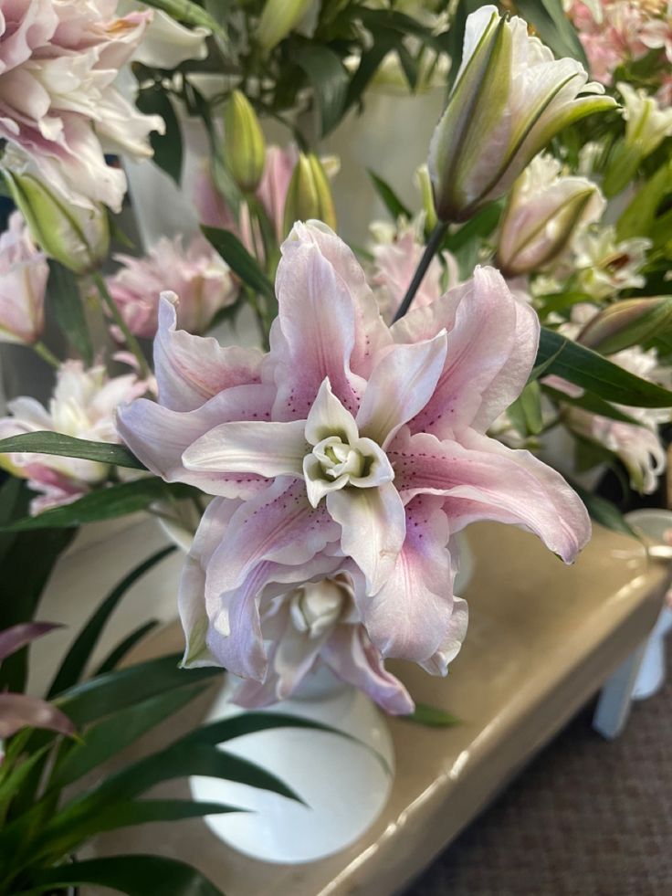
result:
[[[268,418],[273,395],[267,385],[237,385],[184,413],[140,398],[120,408],[117,428],[136,457],[166,482],[186,482],[226,498],[247,497],[263,489],[267,480],[253,473],[189,470],[182,456],[196,439],[221,423]]]

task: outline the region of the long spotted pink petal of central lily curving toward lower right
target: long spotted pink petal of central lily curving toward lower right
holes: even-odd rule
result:
[[[477,520],[509,522],[539,535],[572,563],[591,526],[583,501],[560,473],[529,451],[512,450],[473,429],[460,440],[441,442],[428,433],[397,439],[388,456],[404,500],[423,492],[445,495],[451,532]]]

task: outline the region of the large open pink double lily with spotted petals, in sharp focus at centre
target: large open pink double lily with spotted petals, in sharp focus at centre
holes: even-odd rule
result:
[[[536,314],[478,268],[388,327],[329,228],[297,224],[282,256],[266,356],[175,331],[164,301],[160,404],[119,413],[121,436],[153,472],[224,499],[212,511],[219,534],[201,533],[205,591],[183,585],[192,654],[264,682],[259,602],[278,566],[294,588],[344,564],[362,577],[354,605],[382,656],[445,673],[457,652],[446,648],[453,534],[475,520],[515,523],[567,562],[590,535],[558,473],[485,435],[530,374]]]

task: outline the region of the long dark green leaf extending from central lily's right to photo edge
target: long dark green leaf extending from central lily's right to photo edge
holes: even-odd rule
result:
[[[561,348],[562,353],[558,354]],[[557,357],[547,367],[546,374],[562,376],[605,401],[635,407],[672,406],[672,392],[629,373],[591,349],[572,343],[558,332],[541,327],[535,366],[544,364],[555,354]]]

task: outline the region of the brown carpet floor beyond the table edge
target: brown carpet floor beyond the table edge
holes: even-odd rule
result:
[[[404,896],[672,896],[672,680],[613,743],[591,709]]]

